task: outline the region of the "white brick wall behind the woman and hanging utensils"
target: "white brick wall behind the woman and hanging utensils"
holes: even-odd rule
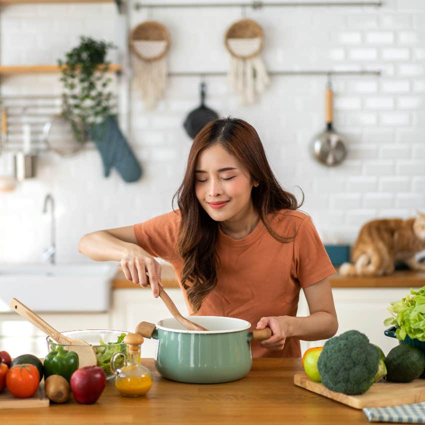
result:
[[[167,0],[172,2],[173,0]],[[388,0],[382,7],[286,7],[251,10],[265,34],[268,69],[376,69],[380,77],[335,76],[334,125],[347,140],[348,157],[326,168],[308,152],[324,127],[323,76],[273,76],[260,101],[240,106],[226,78],[207,77],[206,104],[239,116],[257,129],[277,177],[305,194],[304,209],[323,240],[352,242],[364,221],[408,217],[425,211],[425,1]],[[176,17],[177,16],[177,17]],[[131,8],[131,26],[148,17]],[[171,34],[172,71],[227,69],[222,36],[240,8],[154,9]],[[214,25],[205,22],[213,21]],[[0,9],[1,64],[55,63],[80,34],[118,45],[110,59],[125,57],[125,22],[114,4],[13,5]],[[1,78],[3,95],[60,93],[57,75]],[[79,237],[98,228],[142,221],[170,210],[190,139],[182,128],[199,104],[198,77],[172,77],[165,98],[144,110],[131,87],[129,139],[143,178],[126,184],[113,170],[102,176],[100,157],[87,149],[72,158],[43,152],[37,178],[0,193],[0,262],[38,262],[48,244],[43,196],[56,199],[57,259],[84,261]],[[117,88],[122,90],[117,82]],[[126,97],[120,117],[126,121]]]

